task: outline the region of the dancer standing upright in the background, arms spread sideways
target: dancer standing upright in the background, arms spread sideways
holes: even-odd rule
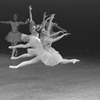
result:
[[[0,21],[0,22],[11,25],[12,30],[8,33],[8,35],[6,36],[5,39],[8,42],[10,42],[12,46],[15,46],[15,45],[17,45],[18,42],[21,41],[21,33],[18,31],[18,27],[19,27],[19,25],[27,24],[27,21],[26,22],[22,22],[22,21],[18,22],[17,21],[18,17],[16,14],[14,14],[13,18],[14,18],[14,21],[7,21],[7,22]],[[17,54],[18,54],[17,49],[13,48],[11,57],[17,56]]]

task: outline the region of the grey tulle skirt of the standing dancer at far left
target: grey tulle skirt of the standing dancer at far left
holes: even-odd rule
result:
[[[21,41],[21,33],[19,31],[17,32],[9,32],[8,35],[5,38],[8,42],[20,42]]]

